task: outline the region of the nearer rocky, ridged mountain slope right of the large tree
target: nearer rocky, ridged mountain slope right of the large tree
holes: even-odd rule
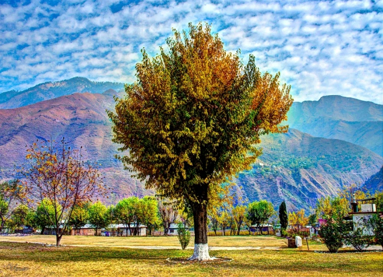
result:
[[[364,183],[383,165],[376,153],[338,139],[313,137],[295,129],[263,137],[263,155],[237,184],[249,201],[284,199],[290,209],[315,206],[343,184]]]

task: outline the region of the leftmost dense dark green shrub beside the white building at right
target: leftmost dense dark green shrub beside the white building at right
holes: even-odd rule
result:
[[[319,230],[321,240],[330,253],[336,253],[342,247],[344,241],[345,226],[342,220],[338,222],[329,219]]]

